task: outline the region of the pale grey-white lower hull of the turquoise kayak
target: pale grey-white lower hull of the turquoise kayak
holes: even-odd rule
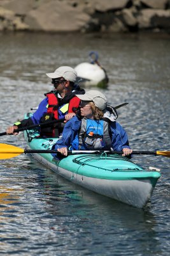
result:
[[[83,188],[99,193],[100,195],[108,196],[138,208],[143,208],[146,205],[153,193],[154,183],[157,180],[157,175],[153,180],[151,177],[143,179],[139,177],[125,180],[117,180],[118,177],[114,180],[87,177],[86,175],[78,174],[78,172],[70,172],[69,170],[66,170],[66,168],[62,168],[61,163],[50,163],[39,154],[32,155],[40,163],[44,164],[65,179],[70,180]]]

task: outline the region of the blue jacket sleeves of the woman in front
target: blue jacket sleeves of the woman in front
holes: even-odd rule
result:
[[[71,147],[72,142],[75,136],[78,134],[78,130],[81,126],[81,120],[78,119],[77,116],[74,116],[69,120],[64,126],[64,130],[62,132],[62,138],[53,145],[53,149],[57,150],[57,148],[62,147]],[[117,122],[111,122],[111,147],[115,151],[122,151],[123,148],[130,148],[129,141],[127,138],[127,133],[123,129],[123,127]],[[73,148],[73,150],[77,148]],[[109,150],[110,148],[108,148]],[[56,154],[52,154],[52,156],[56,156]]]

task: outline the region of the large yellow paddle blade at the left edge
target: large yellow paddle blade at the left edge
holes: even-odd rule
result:
[[[24,149],[0,143],[0,159],[8,159],[24,153]]]

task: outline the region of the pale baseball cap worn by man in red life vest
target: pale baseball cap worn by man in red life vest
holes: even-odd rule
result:
[[[68,66],[62,66],[57,68],[53,73],[47,73],[46,76],[50,78],[64,77],[64,79],[75,82],[77,77],[77,72],[74,68]]]

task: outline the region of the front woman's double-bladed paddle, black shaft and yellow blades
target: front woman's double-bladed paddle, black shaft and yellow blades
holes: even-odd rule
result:
[[[18,156],[20,154],[27,154],[27,153],[59,153],[57,150],[50,150],[50,149],[23,149],[19,147],[15,147],[13,145],[8,145],[4,143],[0,143],[0,159],[8,159],[11,157]],[[123,154],[123,152],[117,151],[103,151],[103,150],[68,150],[68,155],[72,154]],[[165,156],[170,157],[170,151],[133,151],[132,154],[134,155],[153,155],[153,156]]]

